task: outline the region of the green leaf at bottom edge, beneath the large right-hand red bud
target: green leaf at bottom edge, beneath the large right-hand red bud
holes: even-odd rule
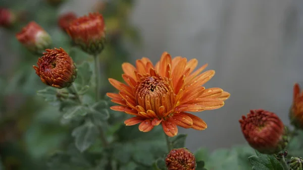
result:
[[[248,157],[253,170],[283,170],[282,164],[273,155],[262,154],[256,150],[254,156]]]

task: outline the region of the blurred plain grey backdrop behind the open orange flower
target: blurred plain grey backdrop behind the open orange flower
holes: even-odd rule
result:
[[[97,0],[71,0],[61,11],[84,15]],[[77,10],[75,10],[77,9]],[[205,131],[182,129],[195,150],[245,143],[238,120],[249,109],[275,112],[288,125],[292,86],[303,82],[303,2],[300,0],[141,0],[132,22],[141,32],[141,49],[153,62],[163,51],[196,58],[216,71],[207,87],[231,93],[224,107],[195,115]]]

